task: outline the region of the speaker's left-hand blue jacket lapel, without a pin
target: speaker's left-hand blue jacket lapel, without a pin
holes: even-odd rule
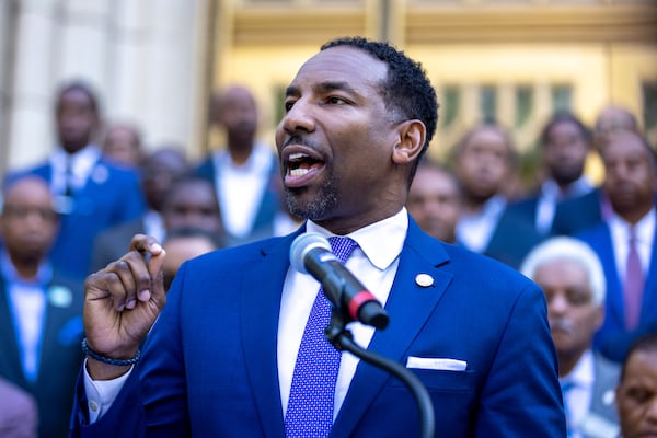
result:
[[[280,293],[290,264],[290,244],[296,235],[263,247],[260,262],[245,273],[241,288],[244,364],[263,430],[268,437],[285,435],[276,345]]]

